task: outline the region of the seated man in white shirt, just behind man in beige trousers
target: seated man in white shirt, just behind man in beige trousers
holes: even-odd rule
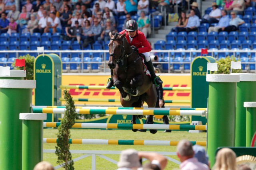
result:
[[[204,15],[201,23],[218,23],[221,17],[221,10],[218,8],[215,2],[212,3],[212,11],[209,15]]]

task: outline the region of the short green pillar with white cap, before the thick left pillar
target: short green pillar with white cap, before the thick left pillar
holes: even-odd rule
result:
[[[22,170],[32,170],[43,160],[44,113],[20,113],[22,120]]]

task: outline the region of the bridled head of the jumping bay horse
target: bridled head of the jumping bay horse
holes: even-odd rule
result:
[[[120,35],[117,32],[113,34],[111,31],[109,32],[110,36],[110,43],[108,44],[109,48],[109,60],[108,66],[110,69],[114,69],[117,63],[123,61],[125,57],[125,50],[124,50],[124,34]]]

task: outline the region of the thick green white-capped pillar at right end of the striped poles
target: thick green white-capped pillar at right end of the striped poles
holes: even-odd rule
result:
[[[209,82],[207,154],[211,165],[218,147],[234,147],[236,121],[236,83],[238,75],[207,74]]]

